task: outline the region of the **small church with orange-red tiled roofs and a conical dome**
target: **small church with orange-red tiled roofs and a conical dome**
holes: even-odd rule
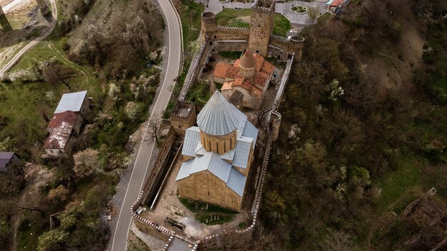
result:
[[[238,95],[241,106],[258,109],[273,76],[275,67],[258,53],[248,49],[234,63],[217,63],[214,68],[214,83],[223,84],[222,94],[231,99]]]

